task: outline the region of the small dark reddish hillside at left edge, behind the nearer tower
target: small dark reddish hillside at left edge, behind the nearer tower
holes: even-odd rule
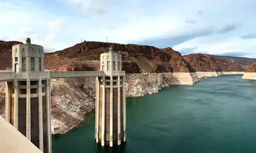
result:
[[[0,70],[6,67],[11,67],[11,49],[16,44],[21,44],[19,41],[2,41],[0,40]]]

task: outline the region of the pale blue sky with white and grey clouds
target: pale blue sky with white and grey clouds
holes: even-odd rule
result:
[[[0,40],[86,41],[256,58],[256,0],[0,0]]]

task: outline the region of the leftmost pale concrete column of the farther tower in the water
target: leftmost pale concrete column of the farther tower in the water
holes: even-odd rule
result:
[[[100,80],[97,77],[96,80],[96,142],[99,142],[99,91],[100,91]]]

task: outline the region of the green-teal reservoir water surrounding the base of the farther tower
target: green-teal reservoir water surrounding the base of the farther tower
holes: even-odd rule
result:
[[[52,137],[53,153],[256,153],[256,83],[242,75],[201,79],[127,98],[127,142],[101,147],[95,116]]]

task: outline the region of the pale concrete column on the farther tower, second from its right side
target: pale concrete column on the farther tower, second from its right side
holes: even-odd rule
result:
[[[118,75],[118,80],[117,80],[117,115],[118,115],[118,119],[117,119],[117,131],[118,131],[118,135],[117,135],[117,140],[118,140],[118,145],[121,145],[121,140],[120,140],[120,134],[121,134],[121,115],[120,115],[120,111],[121,111],[121,107],[120,107],[120,75]]]

